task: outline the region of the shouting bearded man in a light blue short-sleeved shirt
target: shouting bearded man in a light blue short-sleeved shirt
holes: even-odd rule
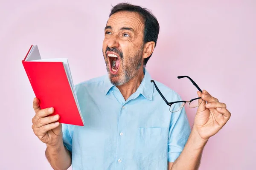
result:
[[[224,103],[198,91],[201,104],[192,130],[184,108],[169,111],[145,65],[156,46],[159,25],[145,8],[120,3],[105,27],[103,56],[108,76],[81,82],[76,94],[84,126],[61,125],[54,108],[34,99],[32,128],[47,144],[55,170],[195,170],[210,136],[230,118]],[[180,96],[160,82],[169,101]],[[207,101],[207,105],[206,102]],[[177,109],[177,105],[175,106]]]

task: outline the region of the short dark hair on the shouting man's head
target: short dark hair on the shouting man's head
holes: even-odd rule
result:
[[[111,17],[111,15],[118,11],[138,12],[144,20],[144,43],[154,41],[155,46],[157,45],[157,38],[160,26],[154,14],[152,14],[147,8],[135,6],[130,3],[119,3],[116,6],[113,6],[113,8],[111,9],[111,13],[109,14],[109,17]],[[144,59],[144,66],[147,64],[148,59],[151,57],[151,55],[148,58]]]

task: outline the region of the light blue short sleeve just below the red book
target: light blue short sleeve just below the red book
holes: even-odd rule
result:
[[[64,146],[72,152],[73,125],[62,124],[62,139]]]

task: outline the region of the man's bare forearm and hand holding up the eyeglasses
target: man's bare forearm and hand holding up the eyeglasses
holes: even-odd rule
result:
[[[231,113],[224,103],[220,103],[205,90],[203,94],[198,91],[198,96],[203,100],[199,100],[201,105],[198,106],[189,139],[175,162],[168,163],[168,170],[197,170],[208,139],[230,119]]]

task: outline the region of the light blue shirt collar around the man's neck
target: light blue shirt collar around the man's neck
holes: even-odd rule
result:
[[[150,82],[151,76],[148,73],[148,71],[145,68],[143,68],[143,71],[144,71],[144,77],[139,88],[137,89],[137,92],[139,94],[142,94],[146,99],[152,100],[154,85],[153,83]],[[104,87],[105,87],[104,89],[105,95],[108,94],[111,88],[115,87],[113,84],[111,84],[108,76],[105,76]]]

